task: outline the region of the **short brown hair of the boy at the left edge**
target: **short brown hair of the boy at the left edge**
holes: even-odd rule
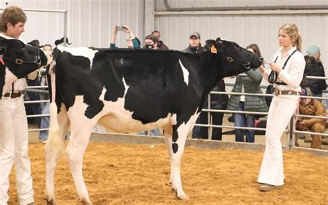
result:
[[[27,17],[24,11],[18,6],[9,6],[1,15],[0,19],[0,31],[6,32],[7,31],[7,23],[10,22],[12,26],[15,26],[17,23],[26,23]]]

